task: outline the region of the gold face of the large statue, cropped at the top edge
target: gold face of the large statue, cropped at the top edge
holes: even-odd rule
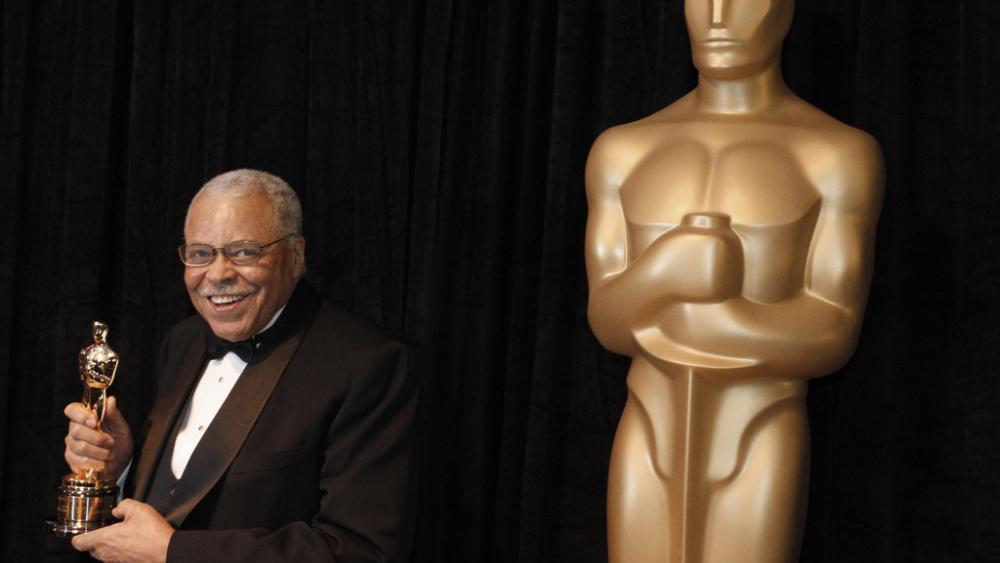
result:
[[[686,0],[691,55],[710,78],[752,76],[778,59],[794,0]]]

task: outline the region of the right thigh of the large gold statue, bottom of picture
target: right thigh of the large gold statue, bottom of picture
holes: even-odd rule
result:
[[[805,523],[809,429],[802,400],[782,401],[748,425],[744,460],[712,485],[705,563],[794,563]]]

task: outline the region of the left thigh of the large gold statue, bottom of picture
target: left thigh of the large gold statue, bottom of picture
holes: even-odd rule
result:
[[[668,483],[657,471],[649,413],[629,392],[608,474],[608,560],[666,563],[669,559]]]

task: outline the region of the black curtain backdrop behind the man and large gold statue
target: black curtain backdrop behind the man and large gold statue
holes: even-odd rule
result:
[[[586,322],[583,167],[693,87],[682,0],[2,6],[0,559],[38,557],[90,322],[137,424],[191,313],[187,202],[257,167],[302,197],[309,279],[414,350],[414,561],[606,560],[628,364]],[[789,84],[888,172],[860,347],[811,387],[802,561],[1000,561],[998,28],[994,0],[798,3]]]

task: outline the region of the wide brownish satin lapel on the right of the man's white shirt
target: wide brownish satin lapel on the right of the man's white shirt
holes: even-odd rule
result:
[[[163,515],[175,527],[181,525],[229,469],[301,340],[302,332],[299,332],[278,345],[260,363],[247,366],[240,375],[191,454],[184,476],[177,483],[174,508]]]

